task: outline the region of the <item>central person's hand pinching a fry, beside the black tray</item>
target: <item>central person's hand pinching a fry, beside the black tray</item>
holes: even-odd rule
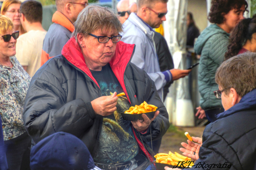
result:
[[[111,96],[101,96],[91,101],[92,108],[96,114],[101,116],[109,116],[116,110],[116,104],[118,97],[114,92]]]

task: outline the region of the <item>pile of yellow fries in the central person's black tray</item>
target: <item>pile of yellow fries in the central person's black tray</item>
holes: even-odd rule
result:
[[[147,104],[147,102],[141,103],[139,106],[131,106],[129,110],[125,111],[125,113],[129,114],[141,114],[141,113],[147,113],[147,112],[155,112],[157,109],[156,106],[152,104]]]

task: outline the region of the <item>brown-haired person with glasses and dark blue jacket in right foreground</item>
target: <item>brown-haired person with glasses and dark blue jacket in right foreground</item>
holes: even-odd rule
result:
[[[217,69],[215,80],[219,90],[214,94],[221,98],[225,112],[206,126],[203,142],[192,137],[195,143],[181,143],[184,148],[180,151],[196,160],[191,169],[203,169],[200,164],[204,164],[204,169],[256,168],[255,76],[256,53],[239,54]]]

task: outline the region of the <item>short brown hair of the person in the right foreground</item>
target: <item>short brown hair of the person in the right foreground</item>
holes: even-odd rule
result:
[[[234,88],[240,97],[256,88],[256,53],[246,52],[220,64],[215,81],[229,94]]]

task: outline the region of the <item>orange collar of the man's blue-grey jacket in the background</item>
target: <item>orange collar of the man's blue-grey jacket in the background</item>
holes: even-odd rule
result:
[[[75,30],[70,19],[64,16],[60,11],[56,11],[52,16],[52,22],[60,24],[61,26],[67,28],[70,32]]]

